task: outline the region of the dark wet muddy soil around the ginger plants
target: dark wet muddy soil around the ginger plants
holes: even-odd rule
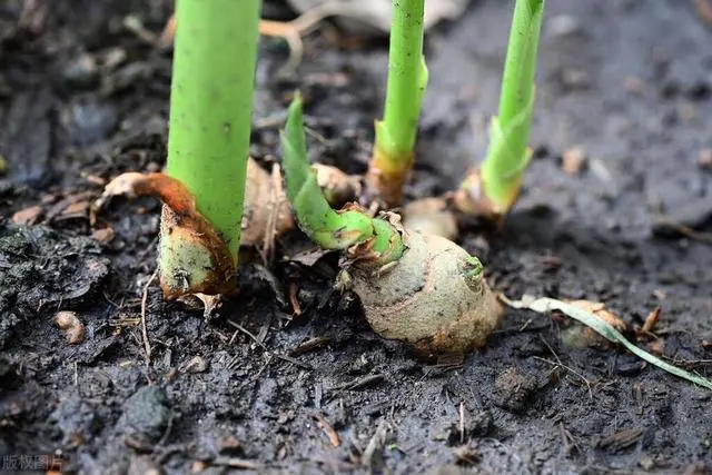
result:
[[[159,205],[116,200],[92,227],[87,204],[102,180],[165,162],[170,53],[122,21],[159,31],[170,2],[39,1],[18,26],[19,3],[0,6],[0,454],[59,454],[91,474],[712,467],[710,392],[622,350],[564,345],[568,320],[518,310],[464,363],[418,362],[329,290],[334,259],[283,258],[308,247],[296,234],[271,265],[241,266],[240,297],[209,321],[162,300],[150,280]],[[411,197],[447,190],[483,156],[511,3],[475,0],[429,33]],[[709,376],[712,29],[693,4],[547,2],[524,194],[502,231],[462,243],[512,297],[604,301],[631,325],[660,306],[660,339],[640,344]],[[293,14],[278,2],[265,13]],[[286,76],[284,44],[263,41],[263,164],[299,87],[324,138],[314,158],[364,170],[386,43],[344,38],[328,24],[310,34]],[[586,161],[566,174],[575,147]],[[32,226],[11,224],[34,206]],[[66,343],[58,310],[83,323],[81,344]]]

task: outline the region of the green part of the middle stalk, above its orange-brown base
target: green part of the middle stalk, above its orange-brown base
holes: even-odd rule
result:
[[[408,157],[415,147],[427,86],[424,3],[424,0],[393,0],[386,106],[384,120],[376,122],[376,147],[394,158]]]

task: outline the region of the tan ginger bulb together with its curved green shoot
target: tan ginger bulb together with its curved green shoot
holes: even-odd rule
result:
[[[287,197],[314,243],[345,253],[372,328],[427,356],[484,345],[501,307],[479,260],[445,238],[404,229],[393,212],[373,218],[355,204],[332,209],[309,167],[301,109],[297,95],[280,133]]]

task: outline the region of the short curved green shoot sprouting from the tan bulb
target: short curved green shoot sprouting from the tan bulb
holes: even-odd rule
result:
[[[405,244],[394,226],[357,209],[335,211],[326,201],[307,158],[303,103],[298,93],[289,106],[287,123],[279,137],[287,198],[299,228],[325,249],[370,244],[368,249],[378,255],[377,263],[397,260],[405,250]]]

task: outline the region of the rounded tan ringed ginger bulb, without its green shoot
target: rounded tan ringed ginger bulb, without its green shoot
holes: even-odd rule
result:
[[[433,235],[408,234],[408,249],[382,270],[354,267],[353,289],[366,319],[385,338],[424,355],[464,355],[497,326],[502,306],[466,250]]]

